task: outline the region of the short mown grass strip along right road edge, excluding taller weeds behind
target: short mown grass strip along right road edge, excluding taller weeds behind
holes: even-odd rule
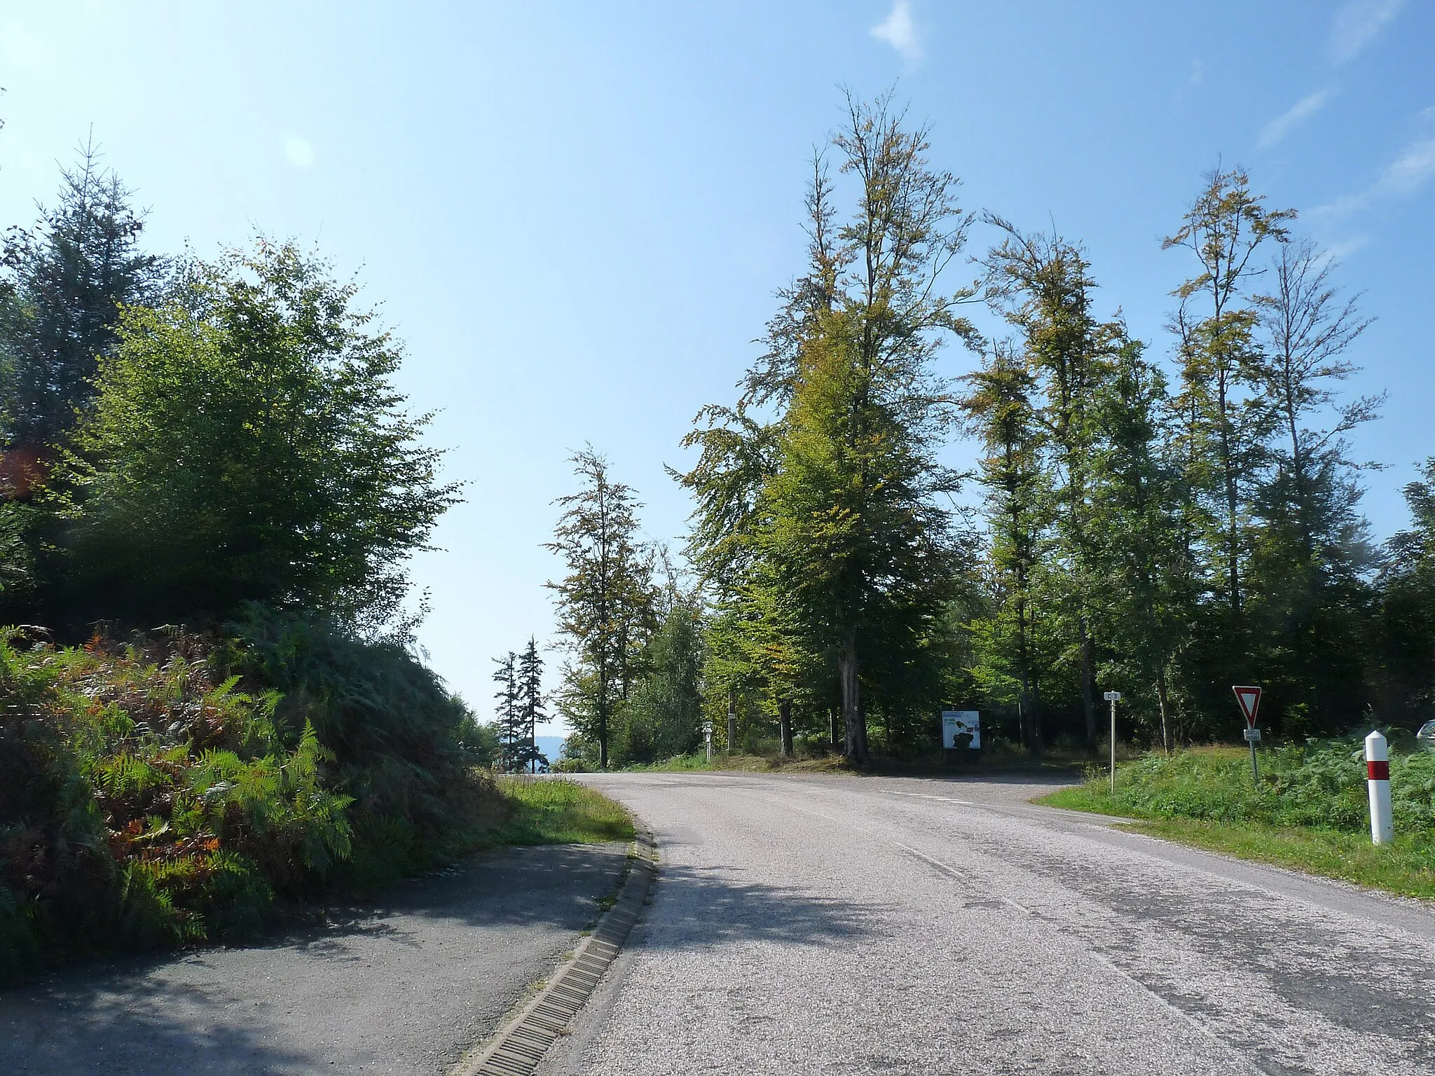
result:
[[[1383,889],[1402,897],[1435,900],[1435,829],[1406,825],[1396,829],[1389,845],[1370,844],[1368,831],[1350,825],[1300,825],[1270,821],[1280,809],[1256,811],[1264,799],[1279,799],[1280,786],[1254,793],[1250,773],[1244,785],[1230,783],[1227,755],[1240,752],[1188,752],[1154,765],[1118,770],[1116,796],[1105,778],[1073,789],[1062,789],[1038,803],[1129,818],[1134,832],[1233,855],[1238,859],[1274,864],[1325,878]],[[1182,770],[1182,778],[1172,770]],[[1363,783],[1363,782],[1362,782]],[[1287,792],[1287,795],[1290,795]],[[1258,796],[1258,799],[1257,799]],[[1200,812],[1205,818],[1185,816]],[[1267,818],[1253,816],[1266,813]],[[1332,812],[1339,816],[1339,812]]]

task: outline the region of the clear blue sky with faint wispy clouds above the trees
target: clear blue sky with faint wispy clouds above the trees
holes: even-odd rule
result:
[[[682,535],[663,465],[699,406],[730,400],[801,268],[806,161],[841,85],[895,83],[967,207],[1085,242],[1104,311],[1159,354],[1190,270],[1159,238],[1217,161],[1248,168],[1378,318],[1355,389],[1391,397],[1355,449],[1389,465],[1366,511],[1398,529],[1435,453],[1432,56],[1425,0],[4,0],[0,224],[33,218],[93,128],[155,250],[260,230],[359,271],[468,482],[415,577],[422,643],[486,713],[489,659],[551,631],[541,542],[571,449],[607,452],[649,534]]]

